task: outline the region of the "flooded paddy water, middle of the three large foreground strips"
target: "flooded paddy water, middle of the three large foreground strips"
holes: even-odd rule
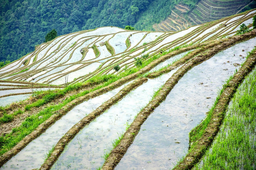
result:
[[[87,169],[95,170],[102,166],[104,153],[112,148],[112,141],[125,132],[126,123],[130,124],[141,108],[151,100],[154,91],[158,90],[175,72],[162,75],[159,78],[148,79],[120,102],[85,127],[69,144],[59,160],[54,164],[54,170]]]

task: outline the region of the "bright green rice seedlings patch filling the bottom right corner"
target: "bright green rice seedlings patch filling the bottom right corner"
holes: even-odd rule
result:
[[[202,170],[255,170],[256,68],[239,86],[212,149],[205,153]]]

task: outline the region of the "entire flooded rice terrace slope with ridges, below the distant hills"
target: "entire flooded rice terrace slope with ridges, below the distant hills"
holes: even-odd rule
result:
[[[40,44],[0,68],[0,170],[255,170],[254,20]]]

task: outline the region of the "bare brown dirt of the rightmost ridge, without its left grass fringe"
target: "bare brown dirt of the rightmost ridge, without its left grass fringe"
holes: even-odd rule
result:
[[[231,98],[236,92],[239,84],[242,83],[245,76],[256,65],[256,51],[251,54],[244,65],[239,69],[235,76],[230,80],[228,87],[224,89],[220,99],[213,110],[213,116],[205,129],[204,135],[198,139],[195,147],[186,155],[183,161],[181,161],[173,170],[190,170],[193,166],[202,158],[205,151],[213,143],[214,137],[218,134],[221,127],[222,120],[225,116],[226,108],[229,105]]]

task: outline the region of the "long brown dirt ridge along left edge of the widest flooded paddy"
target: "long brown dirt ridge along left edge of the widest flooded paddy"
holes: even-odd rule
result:
[[[163,85],[162,89],[156,95],[156,97],[147,104],[147,106],[141,110],[137,118],[133,121],[131,126],[125,132],[123,139],[120,143],[111,151],[108,159],[102,166],[102,170],[113,170],[115,166],[119,163],[121,158],[127,152],[128,147],[133,143],[135,136],[138,134],[141,125],[145,122],[147,117],[154,111],[156,107],[160,105],[162,101],[166,99],[166,96],[171,92],[171,89],[176,85],[179,79],[188,72],[191,68],[195,67],[196,65],[204,62],[207,59],[210,59],[213,55],[233,46],[235,43],[245,41],[252,37],[256,36],[256,30],[238,36],[233,36],[232,38],[225,39],[220,45],[216,45],[213,48],[209,49],[208,51],[203,52],[199,56],[189,60],[187,64],[182,66],[174,73],[171,78],[167,80],[167,82]]]

